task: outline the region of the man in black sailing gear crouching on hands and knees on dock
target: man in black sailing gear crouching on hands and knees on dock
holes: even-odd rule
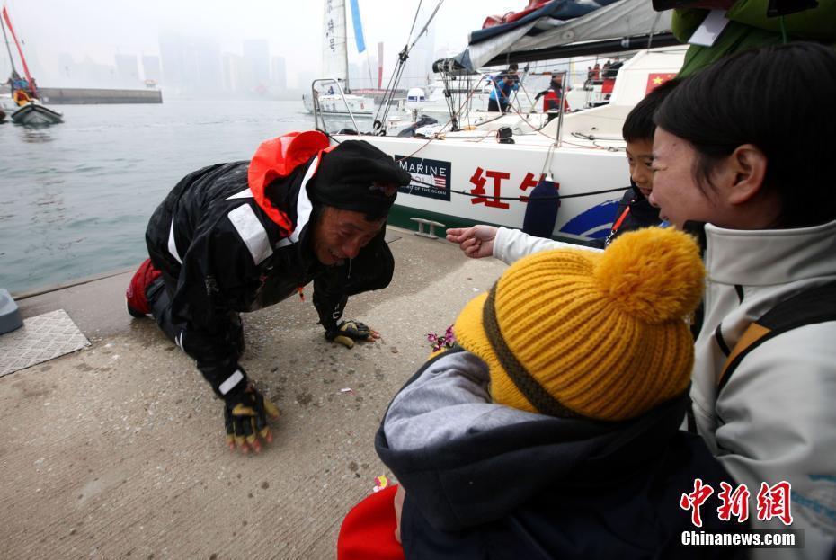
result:
[[[314,282],[325,337],[351,347],[378,333],[341,320],[348,298],[385,288],[394,260],[387,214],[409,173],[362,140],[329,147],[318,131],[262,143],[251,161],[190,173],[151,217],[143,262],[127,291],[225,402],[227,443],[260,451],[278,409],[238,363],[239,313],[271,306]]]

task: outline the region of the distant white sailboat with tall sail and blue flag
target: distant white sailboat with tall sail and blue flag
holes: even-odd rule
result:
[[[351,16],[354,22],[354,39],[358,52],[366,49],[358,0],[351,0]],[[322,37],[322,68],[325,78],[317,80],[324,92],[315,92],[319,111],[328,115],[372,116],[375,113],[374,98],[354,95],[349,85],[348,29],[344,0],[325,0]],[[334,78],[330,83],[326,78]],[[302,95],[308,112],[314,112],[314,98]]]

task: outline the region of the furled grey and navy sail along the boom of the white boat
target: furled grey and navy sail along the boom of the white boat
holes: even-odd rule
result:
[[[557,58],[547,51],[670,30],[671,12],[654,12],[649,0],[552,0],[513,22],[471,32],[467,49],[453,60],[476,70],[522,53],[532,60]]]

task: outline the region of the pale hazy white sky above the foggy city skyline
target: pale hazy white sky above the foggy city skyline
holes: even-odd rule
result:
[[[8,7],[33,66],[55,67],[61,52],[76,61],[86,55],[109,65],[117,52],[157,55],[160,31],[182,31],[217,40],[222,51],[236,54],[242,53],[243,40],[266,39],[271,56],[286,58],[290,85],[300,72],[319,73],[321,0],[0,1]],[[437,0],[360,0],[366,44],[376,53],[378,41],[384,42],[387,66],[405,45],[419,4],[422,16],[416,27],[426,22]],[[433,22],[435,48],[463,49],[467,33],[481,27],[486,15],[518,11],[526,4],[526,0],[445,0]],[[6,53],[2,58],[6,62]],[[358,61],[360,55],[355,51],[351,58]]]

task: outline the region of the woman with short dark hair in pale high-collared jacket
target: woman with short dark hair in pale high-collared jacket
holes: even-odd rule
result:
[[[793,557],[804,558],[836,545],[836,321],[778,335],[758,323],[805,292],[831,294],[822,302],[836,293],[825,287],[836,280],[834,100],[836,52],[790,43],[719,60],[654,118],[650,200],[706,242],[693,421],[759,513],[789,483],[785,523],[761,526],[784,527],[791,514],[791,528],[805,529]]]

